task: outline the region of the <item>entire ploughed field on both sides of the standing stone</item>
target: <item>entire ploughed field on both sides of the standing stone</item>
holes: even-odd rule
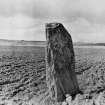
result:
[[[80,89],[90,98],[105,89],[105,48],[76,47]],[[0,105],[36,105],[45,94],[45,48],[0,46]]]

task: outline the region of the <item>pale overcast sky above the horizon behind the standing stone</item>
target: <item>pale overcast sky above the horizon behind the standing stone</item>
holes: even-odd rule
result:
[[[74,42],[105,42],[105,0],[0,0],[0,39],[46,40],[46,22],[61,22]]]

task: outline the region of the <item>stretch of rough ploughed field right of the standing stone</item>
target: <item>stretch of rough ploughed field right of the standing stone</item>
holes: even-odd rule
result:
[[[90,95],[105,89],[105,48],[75,48],[76,73],[80,89]]]

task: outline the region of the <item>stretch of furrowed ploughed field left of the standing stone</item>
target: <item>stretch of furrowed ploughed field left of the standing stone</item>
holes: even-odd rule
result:
[[[1,46],[0,104],[22,105],[45,91],[45,49]]]

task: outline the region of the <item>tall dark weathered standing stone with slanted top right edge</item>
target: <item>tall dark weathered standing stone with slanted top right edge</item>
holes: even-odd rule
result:
[[[46,24],[46,81],[53,101],[61,102],[66,94],[76,94],[75,56],[70,34],[60,23]]]

